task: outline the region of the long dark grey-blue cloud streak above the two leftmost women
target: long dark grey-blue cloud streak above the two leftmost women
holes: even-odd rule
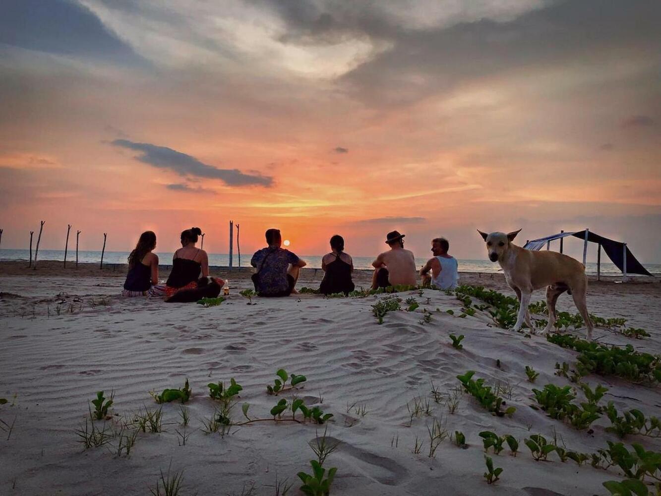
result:
[[[170,169],[182,176],[221,179],[229,186],[270,186],[273,178],[262,175],[244,174],[239,169],[217,169],[200,162],[195,157],[165,146],[136,143],[129,140],[114,140],[111,144],[141,152],[136,159],[159,169]]]

